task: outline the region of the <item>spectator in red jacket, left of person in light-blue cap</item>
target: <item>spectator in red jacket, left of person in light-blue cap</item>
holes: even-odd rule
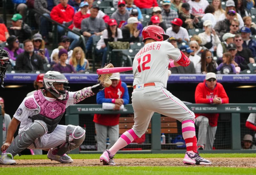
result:
[[[69,27],[73,22],[74,14],[74,8],[68,4],[68,0],[60,0],[60,4],[52,8],[50,16],[63,26]],[[66,30],[59,25],[57,26],[57,31],[59,36],[64,35],[66,32]]]

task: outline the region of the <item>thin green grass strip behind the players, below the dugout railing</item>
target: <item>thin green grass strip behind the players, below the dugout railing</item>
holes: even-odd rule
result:
[[[256,157],[251,154],[200,154],[202,157]],[[72,159],[98,159],[100,154],[71,154]],[[115,158],[183,158],[184,154],[116,154]],[[46,155],[22,155],[14,159],[48,159]]]

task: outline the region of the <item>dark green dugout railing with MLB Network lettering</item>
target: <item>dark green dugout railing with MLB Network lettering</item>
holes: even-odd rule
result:
[[[202,153],[256,153],[256,150],[241,149],[240,113],[256,113],[256,104],[187,104],[194,113],[231,113],[231,149],[202,150]],[[66,110],[65,124],[79,125],[79,114],[130,114],[133,113],[131,104],[125,105],[124,110],[112,111],[102,109],[102,105],[74,105]],[[122,153],[184,153],[184,150],[161,150],[161,115],[154,113],[151,119],[151,150],[119,151]],[[0,108],[0,121],[3,116]],[[3,124],[0,122],[0,143],[3,140]],[[86,139],[86,138],[85,138]],[[79,153],[101,153],[99,151],[79,151],[75,149],[72,154]]]

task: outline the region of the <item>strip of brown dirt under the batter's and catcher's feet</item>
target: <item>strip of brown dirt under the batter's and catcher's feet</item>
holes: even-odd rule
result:
[[[222,167],[242,167],[256,168],[256,158],[208,158],[212,165],[203,166],[222,166]],[[182,158],[131,158],[131,159],[114,159],[116,166],[198,166],[185,165]],[[2,165],[0,167],[38,167],[38,166],[102,166],[99,159],[74,159],[72,164],[60,164],[49,159],[39,160],[16,160],[15,165]]]

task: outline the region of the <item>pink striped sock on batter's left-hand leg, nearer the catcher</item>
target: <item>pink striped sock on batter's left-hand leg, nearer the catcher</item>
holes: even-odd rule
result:
[[[125,131],[124,134],[119,137],[116,143],[109,149],[110,154],[115,155],[119,149],[124,148],[126,145],[129,145],[134,139],[138,136],[134,133],[132,129]]]

